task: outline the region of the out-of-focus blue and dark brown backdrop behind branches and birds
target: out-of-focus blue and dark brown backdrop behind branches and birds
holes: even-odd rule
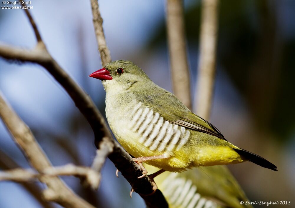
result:
[[[194,95],[200,1],[184,2]],[[101,82],[88,77],[101,68],[90,1],[32,0],[30,6],[49,52],[104,113]],[[112,59],[135,62],[156,84],[171,91],[165,1],[109,0],[99,1],[99,6]],[[294,11],[292,0],[221,0],[219,5],[217,75],[209,121],[228,141],[278,167],[274,172],[250,162],[228,166],[250,201],[291,200],[291,206],[295,204]],[[0,31],[1,44],[35,46],[22,10],[1,9]],[[0,89],[53,165],[91,165],[96,150],[91,128],[41,66],[0,59]],[[0,122],[0,169],[17,166],[30,167]],[[96,207],[145,207],[138,194],[129,197],[130,184],[122,176],[117,178],[115,171],[107,160],[97,192],[83,188],[74,177],[63,179]],[[40,188],[44,185],[1,182],[0,207],[42,207],[28,192]]]

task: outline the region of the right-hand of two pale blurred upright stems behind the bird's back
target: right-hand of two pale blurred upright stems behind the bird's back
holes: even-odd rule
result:
[[[218,0],[202,1],[200,57],[195,112],[209,119],[216,68]]]

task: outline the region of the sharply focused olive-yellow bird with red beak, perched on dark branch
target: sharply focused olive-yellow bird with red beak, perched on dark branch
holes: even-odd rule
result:
[[[102,81],[109,127],[140,165],[140,177],[147,174],[142,162],[169,172],[245,161],[277,171],[263,157],[228,142],[133,62],[112,61],[89,76]]]

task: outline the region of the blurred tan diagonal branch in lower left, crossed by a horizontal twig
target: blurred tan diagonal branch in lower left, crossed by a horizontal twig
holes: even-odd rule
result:
[[[12,134],[14,141],[26,155],[30,164],[42,173],[51,164],[37,143],[29,127],[9,107],[0,94],[0,117]],[[59,203],[64,207],[93,207],[74,194],[58,177],[40,177],[40,181],[48,187],[44,192],[45,199]],[[48,195],[48,193],[50,195]]]

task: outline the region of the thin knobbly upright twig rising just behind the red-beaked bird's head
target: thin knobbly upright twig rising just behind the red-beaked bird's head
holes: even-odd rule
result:
[[[96,35],[96,41],[98,45],[98,50],[101,58],[101,65],[104,67],[106,64],[112,61],[110,51],[106,45],[106,39],[104,37],[104,29],[102,27],[103,19],[101,18],[98,0],[90,0],[91,9],[93,16],[93,26]]]

